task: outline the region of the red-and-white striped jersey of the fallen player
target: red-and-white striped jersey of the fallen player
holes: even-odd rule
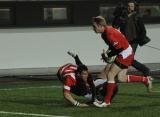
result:
[[[71,86],[76,84],[75,71],[77,66],[71,63],[65,64],[59,68],[58,73],[63,81],[63,91],[70,92]]]

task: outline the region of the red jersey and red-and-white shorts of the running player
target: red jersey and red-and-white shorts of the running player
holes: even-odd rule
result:
[[[112,49],[122,49],[122,51],[118,53],[116,61],[119,61],[125,66],[130,66],[132,64],[134,59],[132,47],[129,45],[126,37],[119,30],[108,26],[105,28],[102,37]]]

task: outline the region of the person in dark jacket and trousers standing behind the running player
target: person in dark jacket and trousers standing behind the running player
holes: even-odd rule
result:
[[[126,36],[134,53],[138,45],[143,46],[150,41],[138,12],[138,5],[134,0],[129,0],[127,5],[120,3],[114,11],[115,17],[112,22],[112,26],[120,28],[120,31]],[[141,71],[144,76],[150,76],[150,69],[137,60],[133,61],[132,66]]]

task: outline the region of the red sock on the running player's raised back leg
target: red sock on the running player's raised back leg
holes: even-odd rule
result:
[[[142,82],[148,84],[148,78],[144,76],[128,75],[127,82]]]

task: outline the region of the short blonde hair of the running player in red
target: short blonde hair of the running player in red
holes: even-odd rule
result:
[[[102,16],[96,16],[92,18],[92,22],[98,25],[107,26],[106,20]]]

